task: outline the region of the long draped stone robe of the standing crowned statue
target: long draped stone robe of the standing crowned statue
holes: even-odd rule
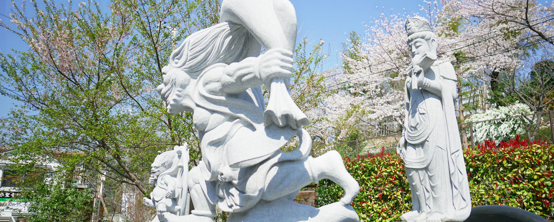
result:
[[[411,183],[414,210],[443,215],[443,221],[469,216],[471,201],[452,84],[457,81],[452,64],[435,61],[426,78],[439,82],[441,95],[404,84],[407,147],[400,155]],[[419,193],[416,193],[416,190]]]

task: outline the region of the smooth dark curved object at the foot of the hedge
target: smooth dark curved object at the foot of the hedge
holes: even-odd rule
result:
[[[471,214],[464,222],[546,222],[546,219],[511,206],[485,205],[471,208]]]

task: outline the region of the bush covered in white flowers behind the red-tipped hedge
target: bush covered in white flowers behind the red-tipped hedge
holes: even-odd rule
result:
[[[483,113],[471,115],[466,122],[478,122],[484,120],[494,120],[495,118],[504,118],[510,116],[519,116],[530,114],[529,106],[516,101],[511,106],[499,106],[496,109],[490,109]],[[485,140],[507,141],[515,135],[525,133],[525,120],[523,118],[507,118],[505,120],[495,120],[479,122],[473,125],[475,142],[484,142]]]

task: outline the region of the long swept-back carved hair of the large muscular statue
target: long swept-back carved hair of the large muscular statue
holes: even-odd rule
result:
[[[184,39],[170,56],[169,67],[196,79],[208,66],[230,64],[248,56],[254,37],[243,25],[223,22],[199,30]]]

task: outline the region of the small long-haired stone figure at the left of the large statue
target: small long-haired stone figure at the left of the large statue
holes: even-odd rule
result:
[[[163,213],[177,214],[178,205],[177,173],[178,151],[166,151],[158,155],[151,164],[150,185],[155,186],[150,198],[143,198],[142,203],[156,208],[158,220],[165,221]]]

